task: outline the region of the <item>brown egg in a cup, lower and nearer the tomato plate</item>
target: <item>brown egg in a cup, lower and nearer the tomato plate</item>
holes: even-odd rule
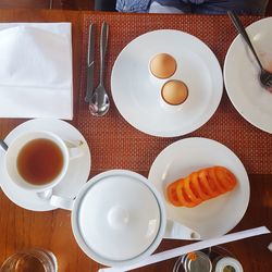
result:
[[[188,97],[188,88],[181,81],[169,81],[162,86],[161,96],[169,104],[181,104]]]

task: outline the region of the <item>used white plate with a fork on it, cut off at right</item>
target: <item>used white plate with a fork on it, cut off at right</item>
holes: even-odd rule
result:
[[[263,66],[272,72],[272,17],[246,28]],[[249,123],[272,133],[272,94],[258,78],[260,70],[243,38],[237,36],[226,53],[224,81],[227,95],[236,110]]]

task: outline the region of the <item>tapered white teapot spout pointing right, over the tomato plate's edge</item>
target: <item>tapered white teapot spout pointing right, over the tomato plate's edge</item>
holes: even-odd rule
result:
[[[182,225],[175,221],[166,221],[166,227],[164,233],[166,239],[200,239],[200,234],[188,226]]]

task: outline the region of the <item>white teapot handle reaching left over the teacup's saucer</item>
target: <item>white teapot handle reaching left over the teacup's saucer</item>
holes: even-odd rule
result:
[[[52,189],[37,193],[38,197],[48,201],[51,206],[72,211],[75,199],[53,195]]]

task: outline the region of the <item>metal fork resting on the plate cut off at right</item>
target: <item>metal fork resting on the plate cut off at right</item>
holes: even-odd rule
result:
[[[227,14],[230,15],[234,26],[236,27],[238,33],[242,35],[242,37],[245,39],[245,41],[247,42],[248,47],[250,48],[251,52],[254,53],[254,55],[255,55],[255,58],[257,60],[257,63],[258,63],[258,65],[260,67],[259,78],[260,78],[261,85],[265,89],[268,89],[269,91],[272,92],[272,73],[270,73],[269,71],[267,71],[262,66],[262,64],[261,64],[261,62],[260,62],[260,60],[259,60],[259,58],[258,58],[258,55],[257,55],[257,53],[255,51],[255,48],[254,48],[254,46],[252,46],[252,44],[251,44],[251,41],[250,41],[250,39],[249,39],[249,37],[247,35],[247,32],[246,32],[245,27],[243,26],[243,24],[242,24],[239,17],[237,16],[237,14],[235,12],[233,12],[233,11],[227,11]]]

